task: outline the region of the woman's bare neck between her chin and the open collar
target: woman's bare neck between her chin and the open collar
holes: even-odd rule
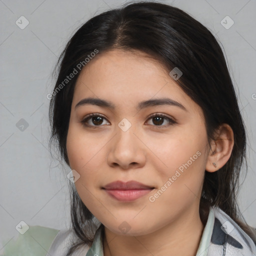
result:
[[[154,232],[127,236],[115,234],[104,227],[104,256],[168,255],[194,256],[204,225],[199,212],[189,211]]]

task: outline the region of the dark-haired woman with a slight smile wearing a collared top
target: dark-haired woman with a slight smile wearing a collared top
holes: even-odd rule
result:
[[[67,43],[48,96],[72,223],[47,255],[256,254],[235,194],[244,125],[201,23],[156,2],[101,13]]]

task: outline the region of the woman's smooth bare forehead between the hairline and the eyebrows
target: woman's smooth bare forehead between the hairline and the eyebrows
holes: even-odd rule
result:
[[[187,108],[195,107],[195,102],[159,61],[142,52],[116,49],[98,54],[81,70],[75,84],[73,104],[84,97],[109,99],[116,102],[117,107],[168,97],[182,101]]]

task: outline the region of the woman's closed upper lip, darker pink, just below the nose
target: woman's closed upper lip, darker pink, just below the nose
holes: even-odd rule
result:
[[[135,180],[130,180],[127,182],[123,182],[121,180],[116,180],[113,182],[110,182],[103,186],[104,189],[118,189],[118,190],[129,190],[129,189],[149,189],[154,188],[152,186],[148,186],[145,184],[142,184]]]

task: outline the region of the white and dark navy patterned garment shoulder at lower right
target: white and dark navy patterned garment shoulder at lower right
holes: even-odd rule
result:
[[[214,226],[209,246],[209,255],[235,256],[256,255],[256,246],[252,239],[218,207],[214,211]],[[224,254],[222,254],[224,253]]]

